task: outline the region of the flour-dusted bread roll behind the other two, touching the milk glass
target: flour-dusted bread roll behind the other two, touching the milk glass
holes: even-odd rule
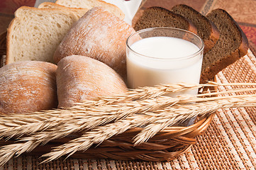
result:
[[[126,39],[135,30],[104,8],[89,10],[63,38],[55,62],[69,55],[84,55],[104,62],[126,79]]]

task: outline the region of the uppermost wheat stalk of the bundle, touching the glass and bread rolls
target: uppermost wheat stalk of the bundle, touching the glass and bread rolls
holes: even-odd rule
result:
[[[21,115],[9,115],[0,116],[0,137],[14,137],[33,134],[34,132],[43,131],[57,125],[61,125],[61,121],[57,119],[64,119],[74,113],[86,111],[86,108],[102,106],[104,104],[122,103],[125,101],[144,100],[147,98],[155,98],[162,94],[169,92],[179,92],[187,89],[198,89],[201,87],[209,86],[255,86],[256,84],[216,84],[215,82],[209,82],[209,84],[167,84],[154,87],[143,87],[140,89],[133,89],[126,94],[95,98],[92,101],[84,101],[77,103],[74,106],[65,110],[52,110],[52,111],[40,111],[37,113],[26,113]],[[235,90],[235,89],[234,89]],[[242,90],[242,89],[238,89]],[[249,89],[244,89],[248,91]],[[252,89],[253,90],[253,89]],[[255,89],[254,89],[255,90]],[[226,93],[225,91],[223,93]],[[218,94],[218,93],[217,93]],[[220,94],[220,93],[219,93]],[[201,96],[206,96],[203,94]],[[213,95],[213,93],[212,93]],[[82,106],[82,108],[81,108]],[[64,120],[63,120],[64,121]]]

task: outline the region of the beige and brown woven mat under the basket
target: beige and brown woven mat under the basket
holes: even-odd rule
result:
[[[249,50],[216,76],[217,81],[255,82],[256,59]],[[226,88],[231,88],[227,86]],[[251,93],[255,93],[251,92]],[[185,154],[170,162],[72,159],[62,157],[40,164],[40,155],[12,158],[1,169],[255,169],[256,108],[219,110],[211,125]]]

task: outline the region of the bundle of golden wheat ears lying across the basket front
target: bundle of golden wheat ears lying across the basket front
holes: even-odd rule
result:
[[[237,88],[210,91],[196,96],[165,96],[171,92],[201,89],[213,86],[236,86]],[[74,140],[55,147],[44,162],[50,162],[77,151],[89,149],[108,138],[130,128],[142,127],[134,138],[134,145],[147,142],[157,132],[195,116],[205,116],[220,108],[256,106],[256,84],[168,84],[129,90],[126,94],[82,101],[71,108],[0,115],[0,137],[16,142],[0,148],[0,165],[14,156],[30,152],[38,145],[80,132]],[[222,95],[221,95],[222,94]],[[231,95],[230,95],[231,94]],[[234,95],[235,94],[235,95]],[[211,96],[210,96],[211,95]]]

